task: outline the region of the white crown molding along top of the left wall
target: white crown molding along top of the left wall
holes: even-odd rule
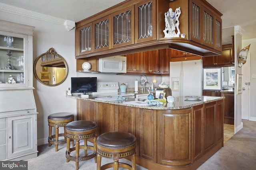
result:
[[[3,3],[0,3],[0,11],[8,12],[11,14],[16,14],[16,15],[20,15],[20,16],[25,16],[25,17],[29,17],[29,18],[34,18],[36,20],[42,20],[42,21],[46,21],[46,22],[52,22],[52,23],[56,23],[56,24],[60,24],[60,25],[65,25],[65,27],[66,27],[66,29],[68,29],[68,31],[70,31],[71,29],[73,29],[75,27],[74,21],[64,20],[61,18],[53,17],[53,16],[48,16],[45,14],[41,14],[41,13],[30,11],[30,10],[25,10],[22,8],[10,6],[10,5],[3,4]]]

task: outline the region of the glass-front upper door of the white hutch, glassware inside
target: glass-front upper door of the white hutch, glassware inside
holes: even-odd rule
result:
[[[28,35],[0,31],[0,88],[28,86]]]

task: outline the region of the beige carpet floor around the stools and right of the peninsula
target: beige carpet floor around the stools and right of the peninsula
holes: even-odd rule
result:
[[[59,145],[58,152],[55,152],[54,145],[41,145],[38,146],[38,151],[37,158],[28,160],[28,170],[76,169],[75,162],[66,162],[66,145]],[[102,158],[102,164],[109,162],[112,160]],[[120,162],[130,163],[126,159]],[[146,170],[138,165],[136,169]],[[94,159],[81,161],[79,170],[96,170]],[[243,120],[243,129],[226,141],[224,147],[204,162],[198,170],[256,170],[256,122]]]

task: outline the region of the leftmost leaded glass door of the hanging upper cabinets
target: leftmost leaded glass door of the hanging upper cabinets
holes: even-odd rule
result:
[[[79,39],[79,43],[77,46],[78,55],[83,55],[87,53],[92,53],[92,23],[86,24],[79,29],[76,29],[76,39]]]

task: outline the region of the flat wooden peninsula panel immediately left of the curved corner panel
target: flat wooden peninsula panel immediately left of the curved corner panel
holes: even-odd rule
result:
[[[137,108],[136,114],[136,137],[137,155],[152,162],[157,161],[156,151],[156,120],[157,110]]]

